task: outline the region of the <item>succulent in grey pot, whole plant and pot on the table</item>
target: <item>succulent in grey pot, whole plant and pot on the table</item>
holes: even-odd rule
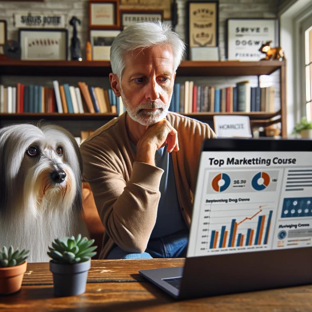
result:
[[[92,246],[94,239],[81,238],[79,234],[57,238],[52,242],[47,254],[52,258],[50,271],[53,273],[54,294],[56,296],[74,296],[85,292],[91,257],[97,246]]]

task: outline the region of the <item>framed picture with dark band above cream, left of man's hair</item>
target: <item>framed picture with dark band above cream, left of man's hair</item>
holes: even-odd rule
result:
[[[90,30],[93,61],[109,61],[110,46],[121,30]]]

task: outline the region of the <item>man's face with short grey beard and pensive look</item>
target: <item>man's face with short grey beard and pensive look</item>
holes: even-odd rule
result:
[[[129,116],[150,126],[165,118],[173,91],[173,53],[170,46],[128,52],[120,94]]]

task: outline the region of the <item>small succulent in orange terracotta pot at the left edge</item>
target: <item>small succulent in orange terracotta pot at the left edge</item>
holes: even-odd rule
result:
[[[14,251],[12,246],[0,250],[0,295],[12,295],[21,290],[28,252],[25,249]]]

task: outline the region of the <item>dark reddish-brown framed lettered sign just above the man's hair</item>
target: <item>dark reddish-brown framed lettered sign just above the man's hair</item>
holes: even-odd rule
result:
[[[163,21],[163,11],[120,10],[120,23],[123,29],[140,22]]]

